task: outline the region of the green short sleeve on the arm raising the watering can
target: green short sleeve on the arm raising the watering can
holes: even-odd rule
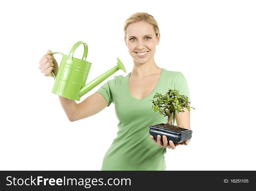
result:
[[[109,80],[106,83],[104,83],[96,92],[99,92],[102,94],[102,96],[106,99],[106,101],[109,103],[109,105],[113,102],[113,94],[112,94],[112,88],[115,85],[115,77],[113,80]],[[107,107],[109,107],[109,105]]]

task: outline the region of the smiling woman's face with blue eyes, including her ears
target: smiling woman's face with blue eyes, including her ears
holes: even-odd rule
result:
[[[159,40],[160,34],[157,38],[153,26],[145,21],[129,24],[126,29],[125,44],[137,63],[147,63],[154,57]],[[138,54],[139,52],[143,55]]]

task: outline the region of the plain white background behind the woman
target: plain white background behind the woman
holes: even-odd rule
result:
[[[69,54],[83,41],[92,63],[87,82],[114,67],[117,57],[127,73],[118,70],[100,85],[126,76],[133,60],[123,24],[146,12],[160,29],[157,66],[184,74],[195,108],[192,139],[167,149],[166,170],[256,170],[255,10],[255,1],[234,0],[3,1],[0,169],[100,170],[118,130],[113,103],[70,122],[39,60],[48,49]],[[79,46],[74,57],[82,51]],[[54,57],[60,63],[62,55]]]

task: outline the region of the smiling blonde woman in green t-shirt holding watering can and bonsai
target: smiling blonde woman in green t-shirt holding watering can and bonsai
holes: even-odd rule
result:
[[[134,67],[127,76],[115,76],[81,103],[60,97],[61,105],[70,121],[77,121],[99,113],[112,102],[119,120],[117,137],[106,152],[101,170],[165,170],[166,148],[175,149],[179,144],[158,135],[157,141],[149,134],[149,126],[167,123],[167,118],[153,112],[154,94],[165,94],[177,89],[187,95],[189,89],[181,72],[168,71],[154,62],[160,33],[156,20],[147,13],[135,13],[124,24],[125,44],[133,58]],[[58,72],[58,64],[51,50],[40,60],[40,70],[45,76]],[[188,104],[189,105],[189,104]],[[190,129],[190,112],[175,113],[177,126]],[[174,120],[173,120],[174,124]],[[157,143],[157,144],[156,144]],[[184,145],[187,145],[186,141]]]

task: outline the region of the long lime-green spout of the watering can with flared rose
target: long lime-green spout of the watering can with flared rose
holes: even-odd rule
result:
[[[124,72],[126,72],[124,65],[122,62],[117,58],[117,65],[113,68],[111,68],[109,71],[105,72],[104,74],[100,75],[93,81],[89,82],[85,86],[83,86],[79,92],[79,97],[82,97],[84,94],[89,92],[91,89],[95,88],[97,85],[99,85],[102,81],[104,81],[106,78],[114,74],[119,69],[122,69]]]

